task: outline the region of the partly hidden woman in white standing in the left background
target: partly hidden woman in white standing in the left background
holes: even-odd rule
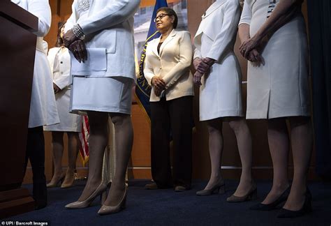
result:
[[[56,187],[63,181],[61,188],[73,186],[75,161],[77,158],[80,140],[78,132],[82,130],[82,116],[69,113],[71,92],[71,59],[68,49],[64,47],[64,22],[59,22],[57,35],[57,47],[48,52],[48,61],[53,75],[53,89],[57,100],[60,123],[52,126],[44,126],[44,130],[52,131],[52,156],[54,175],[47,188]],[[64,151],[64,132],[68,135],[68,168],[64,176],[62,172],[62,154]]]

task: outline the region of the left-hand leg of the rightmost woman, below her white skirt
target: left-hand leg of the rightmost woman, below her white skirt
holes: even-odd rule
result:
[[[272,188],[262,204],[274,202],[288,188],[288,130],[284,118],[268,120],[267,137],[274,167]]]

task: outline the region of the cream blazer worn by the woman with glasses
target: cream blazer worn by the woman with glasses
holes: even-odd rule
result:
[[[152,77],[161,77],[166,84],[166,100],[193,96],[193,78],[189,72],[193,55],[190,33],[172,30],[163,41],[159,54],[157,46],[160,38],[151,40],[147,45],[144,74],[148,84],[152,85]],[[153,86],[149,100],[160,100]]]

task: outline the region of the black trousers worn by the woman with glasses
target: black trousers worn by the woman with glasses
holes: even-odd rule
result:
[[[152,177],[159,188],[191,187],[193,96],[151,102]],[[172,174],[170,168],[172,137]]]

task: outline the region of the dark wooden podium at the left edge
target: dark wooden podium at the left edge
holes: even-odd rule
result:
[[[31,100],[38,18],[9,0],[0,1],[0,219],[34,209],[20,188]]]

